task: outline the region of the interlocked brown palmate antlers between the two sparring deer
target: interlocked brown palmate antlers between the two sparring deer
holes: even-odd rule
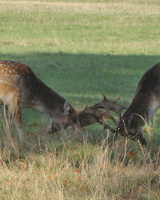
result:
[[[106,120],[111,119],[114,122],[115,126],[117,126],[118,122],[110,114],[109,110],[114,111],[118,115],[118,117],[120,117],[121,116],[121,114],[120,114],[121,110],[126,109],[126,107],[117,104],[117,100],[116,101],[109,101],[104,96],[104,99],[101,103],[97,103],[93,106],[86,107],[84,110],[82,110],[78,114],[81,128],[85,127],[85,126],[89,126],[89,125],[94,124],[94,123],[99,123],[99,124],[103,125],[103,131],[105,129],[109,129],[112,132],[116,133],[117,130],[111,128],[108,125],[108,123],[106,122]],[[105,109],[105,111],[101,111],[99,109]]]

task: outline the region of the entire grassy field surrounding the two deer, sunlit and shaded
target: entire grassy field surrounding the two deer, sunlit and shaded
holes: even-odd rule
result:
[[[160,61],[159,22],[159,0],[0,0],[0,60],[29,65],[76,110],[103,94],[129,106]],[[113,142],[99,125],[46,136],[49,119],[26,109],[19,148],[0,118],[0,199],[160,199],[160,111],[144,127],[146,147]]]

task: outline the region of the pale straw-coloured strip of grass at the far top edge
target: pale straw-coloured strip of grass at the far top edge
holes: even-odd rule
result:
[[[0,1],[1,12],[13,10],[15,12],[66,12],[86,14],[127,14],[137,16],[159,15],[159,6],[144,1],[141,5],[138,1],[132,2],[46,2],[46,1]]]

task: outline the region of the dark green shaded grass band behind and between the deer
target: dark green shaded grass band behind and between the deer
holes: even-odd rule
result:
[[[49,52],[0,54],[0,59],[28,64],[73,106],[84,106],[102,94],[129,104],[144,72],[159,62],[154,55],[96,55]],[[129,98],[128,98],[129,97]],[[129,101],[128,101],[129,99]],[[84,102],[84,104],[83,104]]]

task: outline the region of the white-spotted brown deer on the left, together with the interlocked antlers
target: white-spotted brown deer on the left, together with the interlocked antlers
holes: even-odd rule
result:
[[[4,108],[7,132],[10,132],[11,119],[17,128],[21,146],[25,144],[23,108],[37,110],[50,118],[46,134],[59,132],[69,126],[73,129],[83,128],[94,123],[103,125],[103,130],[115,132],[106,120],[111,119],[117,125],[109,110],[119,115],[125,107],[116,101],[109,101],[104,96],[101,103],[78,113],[65,98],[43,83],[29,66],[14,61],[0,61],[0,105]],[[105,109],[105,112],[99,109]]]

